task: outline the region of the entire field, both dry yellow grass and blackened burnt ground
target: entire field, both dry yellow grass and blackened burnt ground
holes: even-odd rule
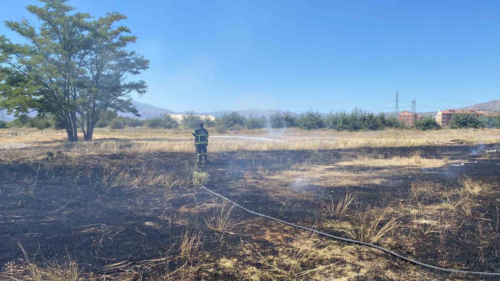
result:
[[[212,164],[197,167],[189,130],[47,131],[0,129],[0,280],[494,280],[278,224],[200,185],[431,265],[500,272],[500,130],[210,132]]]

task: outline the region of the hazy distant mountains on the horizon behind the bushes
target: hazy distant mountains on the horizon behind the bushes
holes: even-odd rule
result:
[[[183,112],[174,112],[169,109],[161,108],[161,107],[156,107],[147,103],[142,103],[138,102],[135,100],[132,100],[132,104],[137,108],[139,111],[139,114],[141,115],[141,119],[145,119],[148,117],[156,116],[156,115],[161,115],[161,114],[183,114]],[[469,106],[462,107],[465,109],[476,109],[476,110],[484,110],[484,111],[493,111],[493,110],[500,110],[500,99],[494,99],[488,102],[483,102],[483,103],[477,103]],[[452,108],[442,108],[442,109],[452,109]],[[454,108],[454,109],[460,109],[460,108]],[[244,109],[244,110],[234,110],[238,112],[241,115],[256,115],[256,116],[268,116],[270,114],[273,114],[275,112],[278,113],[284,113],[286,112],[285,110],[277,110],[277,109]],[[227,111],[210,111],[210,112],[202,112],[200,113],[201,115],[212,115],[219,117],[220,115],[226,113]],[[433,112],[420,112],[421,114],[436,114],[437,111]],[[296,115],[297,113],[295,112],[290,112],[291,114]],[[30,116],[34,116],[36,113],[32,112],[29,114]],[[119,113],[121,116],[128,116],[128,117],[134,117],[132,113]],[[12,115],[5,115],[5,120],[10,121],[13,120],[14,117]]]

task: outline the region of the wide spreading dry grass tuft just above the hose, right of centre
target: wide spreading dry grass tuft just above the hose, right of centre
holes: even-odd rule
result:
[[[399,217],[395,215],[388,216],[387,210],[380,213],[370,210],[366,210],[364,213],[357,211],[354,216],[351,216],[356,226],[348,226],[347,229],[338,230],[347,233],[352,239],[367,243],[376,243],[385,234],[401,226],[397,222]]]

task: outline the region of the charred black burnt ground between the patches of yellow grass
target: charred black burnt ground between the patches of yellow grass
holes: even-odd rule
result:
[[[124,144],[126,145],[126,144]],[[486,145],[485,149],[498,147],[497,144]],[[210,174],[207,187],[215,192],[231,198],[241,205],[262,213],[277,216],[285,198],[270,194],[269,189],[259,186],[243,187],[241,178],[244,172],[256,172],[259,167],[270,172],[290,169],[294,164],[307,163],[316,165],[331,165],[341,161],[342,157],[354,157],[360,154],[383,154],[384,157],[409,155],[419,150],[423,157],[448,156],[451,160],[460,159],[466,162],[463,166],[446,168],[415,169],[414,177],[397,172],[391,177],[391,183],[384,186],[354,187],[363,201],[372,205],[395,205],[408,196],[408,188],[415,179],[432,180],[450,184],[459,175],[469,175],[475,178],[500,181],[500,165],[496,159],[482,159],[471,155],[474,146],[421,146],[421,147],[388,147],[388,148],[358,148],[335,149],[324,151],[230,151],[209,153],[211,165],[198,165],[200,170]],[[42,155],[45,147],[22,148],[29,153]],[[1,151],[0,151],[1,152]],[[477,161],[477,162],[474,162]],[[241,257],[237,245],[244,241],[261,243],[263,247],[272,248],[272,242],[255,239],[251,231],[264,231],[264,228],[274,227],[274,222],[255,218],[250,214],[235,210],[233,215],[241,220],[249,221],[250,226],[225,234],[223,241],[212,231],[204,227],[203,217],[211,213],[210,209],[197,207],[203,202],[212,200],[212,196],[204,190],[191,187],[171,188],[164,190],[158,186],[146,186],[137,190],[125,188],[103,188],[101,186],[102,166],[110,163],[127,168],[145,165],[151,170],[176,170],[184,172],[186,166],[194,166],[194,155],[190,153],[116,153],[109,155],[87,155],[76,164],[69,158],[57,156],[55,159],[24,161],[23,163],[0,164],[0,264],[8,261],[19,262],[23,258],[18,244],[36,260],[45,258],[47,261],[63,260],[67,254],[75,257],[85,270],[100,272],[109,263],[123,260],[138,261],[157,258],[160,252],[170,245],[178,243],[178,237],[185,231],[186,223],[200,229],[205,237],[203,248],[210,256]],[[125,168],[125,167],[122,167]],[[359,170],[364,166],[352,167]],[[37,173],[38,170],[38,173]],[[91,170],[90,178],[84,176]],[[373,170],[373,172],[376,172]],[[33,188],[33,178],[36,184]],[[76,175],[80,174],[79,178]],[[318,191],[316,192],[315,189]],[[324,194],[320,187],[310,186],[307,196],[290,199],[290,208],[282,219],[297,224],[312,225],[326,219],[315,216],[311,209],[320,209]],[[343,196],[342,188],[330,193],[334,198]],[[328,195],[330,195],[328,194]],[[392,250],[407,254],[409,257],[429,264],[439,266],[459,265],[467,270],[495,271],[500,267],[500,257],[497,246],[500,238],[494,230],[494,223],[500,208],[500,198],[479,196],[483,202],[474,211],[481,219],[468,219],[461,231],[450,235],[449,240],[436,246],[438,238],[420,235],[414,239],[414,250],[405,250],[404,243],[397,241]],[[161,220],[162,214],[172,215],[169,223]],[[402,217],[408,220],[409,217]],[[404,223],[406,221],[403,221]],[[477,235],[477,223],[487,232],[487,242],[481,242]],[[95,233],[78,233],[91,226],[99,227],[105,224],[110,230],[118,232],[115,235],[97,235]],[[289,233],[299,232],[283,227]],[[345,235],[332,229],[322,229],[334,235]],[[489,231],[489,232],[488,232]],[[401,228],[399,235],[411,236],[407,228]],[[257,235],[258,236],[258,235]],[[480,252],[485,253],[485,262],[478,262]],[[382,253],[377,253],[384,256]],[[387,256],[390,259],[391,257]],[[203,262],[203,260],[200,260]],[[176,265],[171,264],[172,268]],[[213,265],[217,266],[217,265]],[[391,269],[402,271],[408,264],[394,260]],[[381,268],[383,270],[383,268]],[[214,272],[222,272],[215,270]],[[235,275],[200,275],[202,279],[232,279]],[[446,274],[436,273],[444,277]],[[470,279],[475,277],[470,276]],[[237,278],[236,278],[237,279]]]

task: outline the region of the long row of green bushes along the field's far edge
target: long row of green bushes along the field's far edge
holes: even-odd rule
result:
[[[384,128],[406,128],[407,126],[399,122],[394,116],[386,116],[383,112],[373,114],[354,108],[351,112],[330,111],[328,114],[321,114],[317,111],[308,110],[301,114],[291,114],[290,112],[274,113],[265,116],[248,115],[244,116],[238,112],[231,111],[222,114],[215,119],[208,116],[197,115],[195,112],[186,112],[180,123],[170,114],[163,114],[141,120],[138,118],[118,116],[116,111],[106,110],[101,113],[96,127],[109,127],[111,129],[122,129],[124,127],[146,126],[149,128],[175,128],[179,125],[188,128],[195,128],[200,122],[204,122],[205,127],[214,127],[218,132],[236,129],[255,128],[285,128],[299,127],[303,129],[331,128],[336,130],[381,130]],[[36,127],[45,129],[53,127],[63,128],[55,116],[19,116],[13,121],[0,121],[0,128],[5,127]],[[425,117],[416,121],[414,127],[420,130],[440,129],[441,126],[434,117]],[[500,116],[477,117],[470,114],[456,114],[450,122],[451,128],[500,128]]]

